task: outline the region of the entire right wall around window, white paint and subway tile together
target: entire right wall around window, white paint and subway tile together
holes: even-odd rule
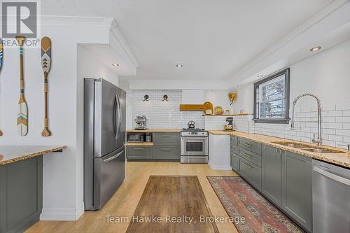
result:
[[[341,147],[341,144],[350,143],[349,61],[350,41],[346,41],[290,66],[290,102],[304,92],[314,93],[321,99],[323,143],[328,146]],[[238,91],[236,106],[253,113],[253,83]],[[295,131],[291,131],[289,125],[256,123],[249,132],[311,141],[313,134],[317,133],[317,125],[309,121],[316,121],[316,115],[316,101],[304,97],[295,106]]]

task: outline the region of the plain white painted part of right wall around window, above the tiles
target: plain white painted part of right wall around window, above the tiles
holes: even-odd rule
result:
[[[350,99],[350,41],[290,66],[290,100],[304,92],[316,94],[322,105],[346,103]],[[253,83],[238,90],[237,108],[253,113]],[[298,107],[314,106],[314,99],[300,99]]]

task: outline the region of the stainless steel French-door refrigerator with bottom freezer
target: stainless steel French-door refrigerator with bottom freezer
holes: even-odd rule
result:
[[[125,100],[125,91],[116,85],[85,78],[85,210],[101,209],[124,181]]]

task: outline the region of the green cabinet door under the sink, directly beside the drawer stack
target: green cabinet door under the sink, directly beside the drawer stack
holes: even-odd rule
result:
[[[283,150],[262,146],[262,185],[261,192],[276,206],[281,207],[281,156]]]

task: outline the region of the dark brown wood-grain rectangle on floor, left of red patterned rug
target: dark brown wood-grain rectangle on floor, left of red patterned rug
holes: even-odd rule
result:
[[[127,233],[218,233],[216,223],[201,223],[208,217],[213,216],[197,176],[151,176]]]

